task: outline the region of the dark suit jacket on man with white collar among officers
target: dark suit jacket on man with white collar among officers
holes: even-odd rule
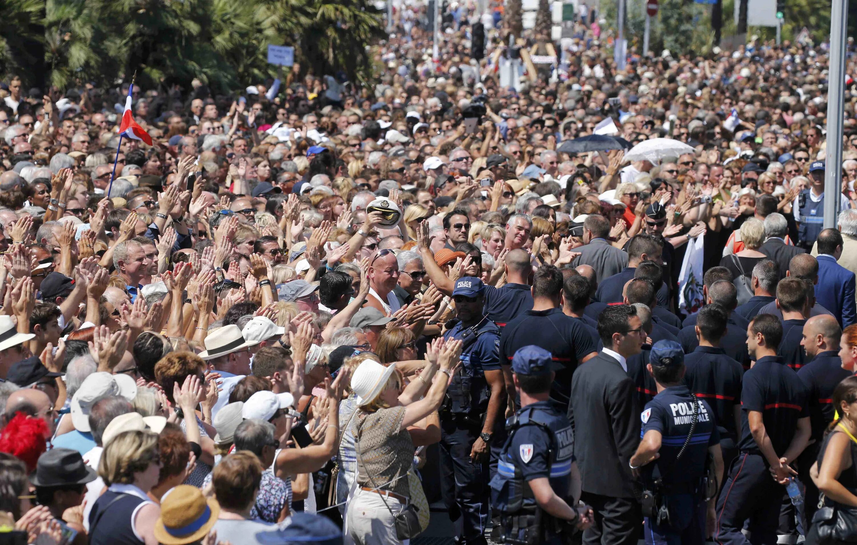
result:
[[[615,358],[600,352],[574,372],[568,418],[585,492],[634,497],[628,461],[640,441],[641,410],[637,386]]]

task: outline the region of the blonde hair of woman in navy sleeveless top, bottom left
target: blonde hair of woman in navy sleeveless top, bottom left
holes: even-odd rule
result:
[[[107,486],[133,484],[134,474],[158,463],[158,434],[151,431],[123,431],[105,445],[99,461],[99,477]]]

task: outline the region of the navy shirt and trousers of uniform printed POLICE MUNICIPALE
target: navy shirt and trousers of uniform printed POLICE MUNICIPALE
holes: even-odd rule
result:
[[[705,541],[705,463],[708,449],[719,443],[714,412],[704,400],[697,400],[696,426],[693,427],[693,402],[684,385],[662,390],[640,415],[646,432],[655,430],[662,435],[660,457],[640,468],[644,483],[662,478],[663,498],[668,506],[669,520],[644,518],[645,542],[650,545],[693,545]],[[685,453],[678,462],[676,456],[685,444]]]

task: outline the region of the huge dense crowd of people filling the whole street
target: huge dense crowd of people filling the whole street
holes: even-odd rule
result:
[[[0,537],[857,541],[825,49],[620,70],[586,10],[551,66],[500,5],[447,8],[433,57],[396,3],[372,85],[135,86],[153,145],[127,85],[3,80]],[[560,150],[604,127],[627,145]],[[692,151],[626,161],[656,138]]]

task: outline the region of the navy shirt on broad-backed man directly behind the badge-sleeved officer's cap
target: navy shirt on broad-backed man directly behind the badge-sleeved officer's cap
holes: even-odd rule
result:
[[[558,403],[563,411],[568,409],[572,390],[572,373],[587,355],[596,352],[593,341],[584,324],[577,318],[566,316],[560,308],[547,311],[524,311],[506,323],[500,335],[500,364],[511,365],[512,356],[518,348],[529,345],[542,347],[561,364],[554,385],[550,388],[550,399]]]

